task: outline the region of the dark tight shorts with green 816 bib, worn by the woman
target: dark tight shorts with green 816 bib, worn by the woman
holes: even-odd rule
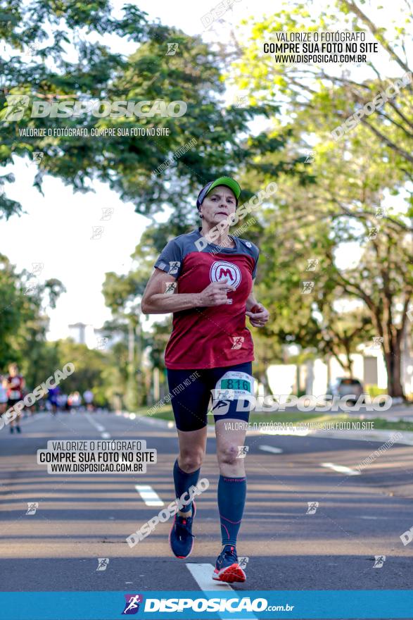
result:
[[[250,361],[220,368],[167,368],[167,382],[178,430],[206,426],[211,399],[215,422],[227,418],[249,420],[251,404],[246,396],[254,394]]]

